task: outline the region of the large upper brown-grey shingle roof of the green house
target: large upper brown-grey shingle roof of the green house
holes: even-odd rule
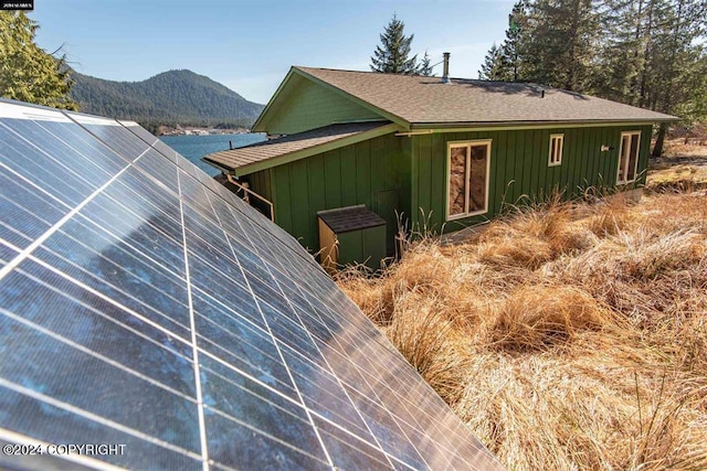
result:
[[[465,78],[452,78],[451,84],[445,84],[440,77],[294,68],[409,124],[655,122],[677,119],[536,84]]]

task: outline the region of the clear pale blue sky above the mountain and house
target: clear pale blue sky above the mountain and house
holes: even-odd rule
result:
[[[393,13],[432,63],[476,78],[514,0],[35,0],[38,44],[80,73],[137,82],[187,68],[265,104],[292,65],[369,71]],[[441,75],[442,66],[434,68]]]

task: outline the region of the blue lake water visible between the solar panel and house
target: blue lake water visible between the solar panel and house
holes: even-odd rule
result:
[[[233,142],[234,148],[264,141],[265,135],[255,132],[247,135],[160,136],[160,139],[167,146],[189,159],[190,162],[213,176],[221,172],[208,163],[202,162],[202,157],[211,152],[229,150],[229,141]]]

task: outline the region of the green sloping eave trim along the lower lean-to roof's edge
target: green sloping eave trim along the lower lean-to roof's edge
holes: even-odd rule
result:
[[[219,170],[226,171],[228,173],[231,173],[235,176],[243,176],[254,172],[258,172],[261,170],[266,170],[273,167],[278,167],[285,163],[294,162],[296,160],[306,159],[307,157],[312,157],[317,153],[328,152],[330,150],[335,150],[345,146],[350,146],[368,139],[377,138],[379,136],[397,132],[397,131],[400,131],[401,129],[402,128],[400,125],[395,122],[391,122],[389,125],[383,125],[381,127],[370,129],[368,131],[355,133],[352,136],[335,139],[333,141],[324,142],[318,146],[308,147],[306,149],[296,150],[289,153],[283,153],[276,157],[272,157],[270,159],[261,160],[253,163],[247,163],[245,165],[240,165],[235,168],[226,168],[222,164],[219,164],[218,162],[210,160],[208,156],[203,157],[201,160],[203,160],[205,163],[212,167],[218,168]]]

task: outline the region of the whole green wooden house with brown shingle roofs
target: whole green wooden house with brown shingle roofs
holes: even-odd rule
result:
[[[555,190],[634,189],[653,125],[676,119],[534,84],[292,67],[253,126],[270,139],[203,160],[313,251],[330,244],[318,213],[363,205],[391,255],[399,221],[453,232]]]

